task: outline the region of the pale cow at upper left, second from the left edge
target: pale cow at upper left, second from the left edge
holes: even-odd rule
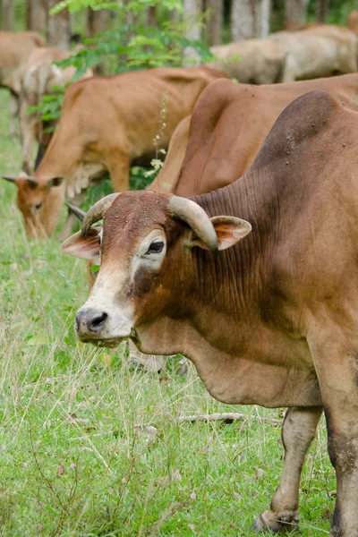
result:
[[[55,128],[54,122],[51,122],[51,125],[43,124],[40,112],[29,114],[28,108],[38,106],[43,95],[51,94],[54,86],[64,87],[72,81],[76,72],[75,67],[62,69],[53,64],[53,62],[60,62],[70,55],[70,52],[55,47],[36,48],[30,54],[29,62],[23,73],[20,93],[22,170],[26,174],[33,171],[30,161],[35,141],[38,141],[40,154],[43,155],[52,136],[52,133],[46,132],[47,128],[48,126],[51,126],[52,129]],[[92,72],[89,70],[85,77],[91,75]]]

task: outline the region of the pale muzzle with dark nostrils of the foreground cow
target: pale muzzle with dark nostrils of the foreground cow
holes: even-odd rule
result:
[[[77,312],[75,328],[83,343],[115,347],[132,336],[132,323],[123,315],[97,308],[83,307]]]

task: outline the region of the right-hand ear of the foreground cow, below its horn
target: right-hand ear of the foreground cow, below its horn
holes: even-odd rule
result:
[[[218,250],[226,250],[226,248],[234,246],[251,232],[251,224],[242,218],[212,217],[210,220],[217,234]],[[193,239],[192,243],[209,250],[208,246],[198,238]]]

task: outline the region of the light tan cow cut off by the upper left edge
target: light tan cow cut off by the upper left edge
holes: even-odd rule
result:
[[[46,43],[36,31],[13,33],[0,31],[0,87],[11,92],[10,134],[15,134],[15,117],[18,113],[18,97],[21,91],[23,69],[34,48],[45,47]]]

